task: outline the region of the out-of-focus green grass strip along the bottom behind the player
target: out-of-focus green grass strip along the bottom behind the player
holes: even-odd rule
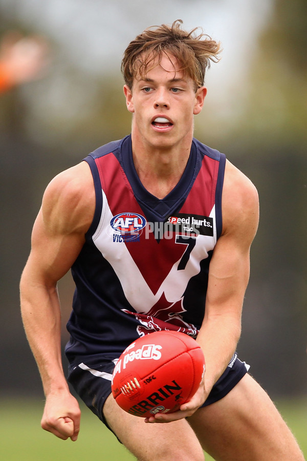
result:
[[[307,455],[307,399],[280,402],[283,417]],[[77,442],[62,441],[40,428],[43,402],[34,399],[0,400],[0,459],[4,461],[132,461],[90,410],[81,404],[81,430]],[[141,441],[140,441],[141,442]],[[206,455],[206,461],[212,461]]]

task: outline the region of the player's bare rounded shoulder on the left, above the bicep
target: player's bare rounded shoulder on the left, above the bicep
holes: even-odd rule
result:
[[[51,234],[85,233],[94,211],[94,182],[84,161],[55,176],[43,195],[42,218]]]

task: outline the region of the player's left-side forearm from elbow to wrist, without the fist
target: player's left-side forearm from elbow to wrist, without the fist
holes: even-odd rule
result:
[[[33,282],[25,269],[20,282],[21,315],[45,395],[68,390],[61,361],[61,312],[56,286]]]

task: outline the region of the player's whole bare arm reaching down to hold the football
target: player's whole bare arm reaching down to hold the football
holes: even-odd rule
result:
[[[146,422],[171,422],[190,416],[204,403],[235,352],[249,280],[250,246],[258,226],[258,194],[254,185],[226,163],[222,197],[223,232],[209,268],[205,317],[197,341],[206,361],[204,383],[179,412],[157,414]]]

